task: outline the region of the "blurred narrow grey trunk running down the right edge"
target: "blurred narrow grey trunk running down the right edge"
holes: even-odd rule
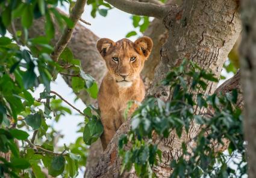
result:
[[[243,34],[240,45],[240,66],[245,101],[244,132],[247,142],[248,175],[256,175],[256,1],[242,1]]]

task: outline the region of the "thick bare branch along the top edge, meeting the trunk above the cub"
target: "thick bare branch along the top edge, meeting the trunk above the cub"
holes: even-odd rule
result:
[[[158,4],[152,4],[149,2],[139,2],[131,0],[105,0],[109,4],[118,8],[119,10],[125,11],[126,13],[138,15],[138,16],[148,16],[156,17],[158,19],[163,19],[168,13],[172,6],[161,6]],[[152,1],[151,1],[152,2]]]

